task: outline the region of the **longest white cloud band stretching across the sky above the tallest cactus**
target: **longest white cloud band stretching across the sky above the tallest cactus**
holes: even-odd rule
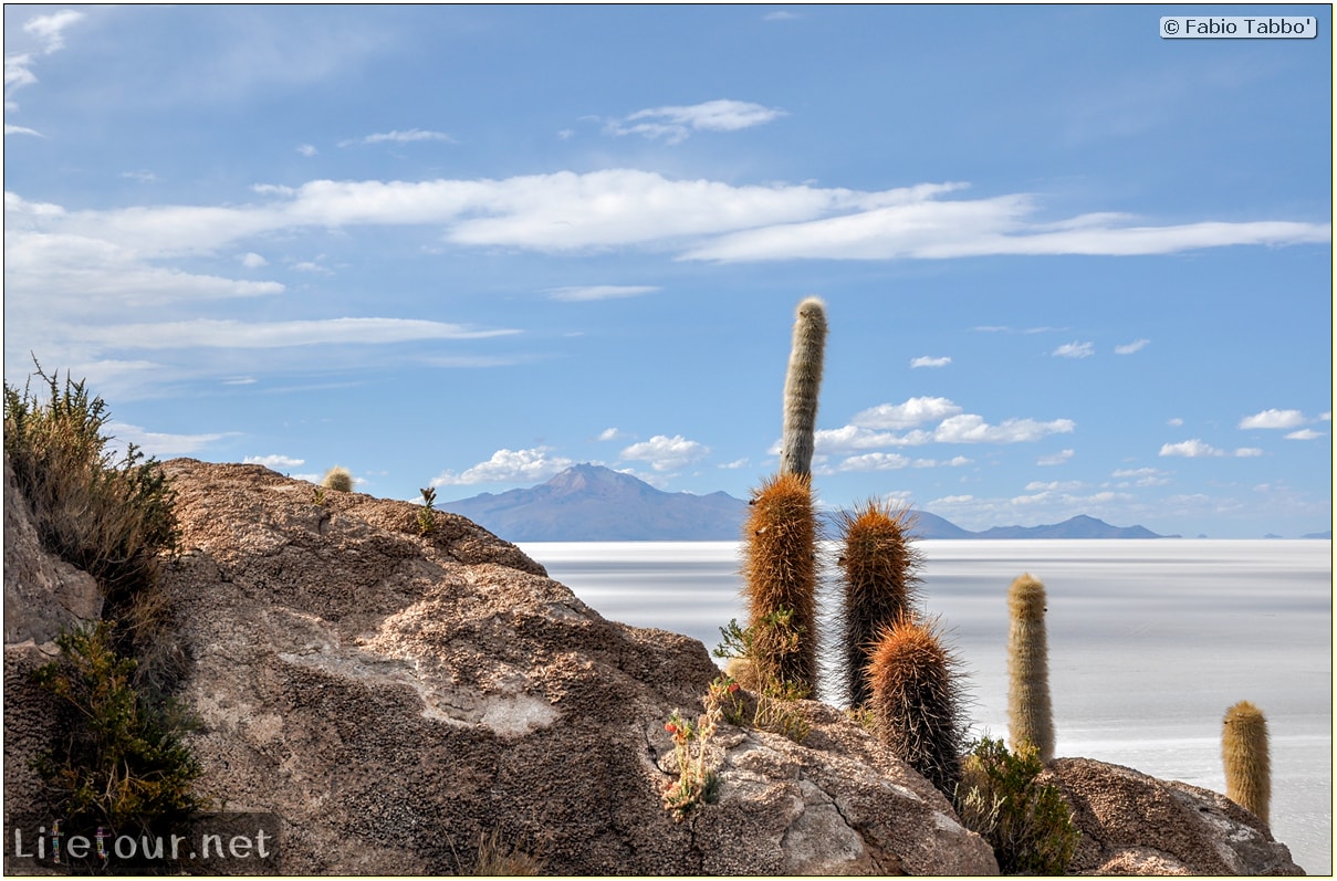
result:
[[[673,180],[630,168],[559,171],[503,180],[310,180],[299,187],[258,184],[258,205],[143,206],[74,211],[43,218],[33,231],[74,235],[124,249],[139,261],[209,254],[266,233],[353,225],[439,225],[464,246],[537,251],[646,246],[679,250],[683,259],[894,259],[985,253],[1174,253],[1219,245],[1326,242],[1330,226],[1207,223],[1215,237],[1177,237],[1161,227],[1147,251],[1127,251],[1118,237],[1082,251],[1013,246],[1051,233],[1027,226],[1024,197],[939,201],[959,183],[882,191],[808,184],[734,186]],[[7,202],[8,209],[8,202]],[[836,215],[836,217],[832,217]],[[868,218],[884,218],[870,227]],[[7,210],[7,223],[8,223]],[[1044,225],[1048,230],[1052,225]],[[852,229],[846,229],[852,227]],[[876,234],[874,234],[876,233]],[[738,238],[743,237],[743,238]],[[743,247],[743,243],[751,242]],[[1001,243],[1000,243],[1001,242]],[[1110,247],[1099,247],[1108,242]],[[761,245],[765,245],[762,247]]]

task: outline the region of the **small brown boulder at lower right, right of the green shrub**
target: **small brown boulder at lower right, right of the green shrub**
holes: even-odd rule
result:
[[[1082,830],[1076,874],[1304,874],[1267,826],[1226,798],[1122,765],[1060,758],[1044,773]]]

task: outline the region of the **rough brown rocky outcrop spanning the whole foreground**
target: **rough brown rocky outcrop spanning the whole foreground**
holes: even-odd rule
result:
[[[456,515],[436,512],[421,535],[414,504],[336,491],[318,503],[312,484],[258,465],[164,467],[182,552],[162,583],[162,639],[203,722],[201,789],[229,811],[281,817],[285,873],[453,874],[485,836],[560,874],[997,872],[923,777],[813,702],[798,705],[802,745],[721,726],[719,801],[674,822],[663,725],[699,713],[717,675],[699,642],[604,620]],[[27,516],[13,496],[7,539]],[[80,574],[63,565],[7,543],[7,638],[12,592],[25,640],[5,651],[7,829],[43,818],[33,781],[12,775],[31,775],[53,734],[31,683],[36,640],[95,614],[71,603]],[[1084,833],[1076,870],[1294,869],[1214,793],[1086,759],[1047,773]]]

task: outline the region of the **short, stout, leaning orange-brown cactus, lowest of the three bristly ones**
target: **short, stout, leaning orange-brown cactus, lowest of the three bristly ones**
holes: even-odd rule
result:
[[[948,798],[961,779],[965,749],[956,666],[936,622],[910,615],[882,631],[868,664],[878,737]]]

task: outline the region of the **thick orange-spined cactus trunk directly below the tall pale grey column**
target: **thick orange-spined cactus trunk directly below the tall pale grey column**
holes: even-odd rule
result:
[[[774,678],[816,691],[820,535],[812,480],[782,473],[762,481],[743,529],[745,590],[758,634],[754,674],[761,682]]]

